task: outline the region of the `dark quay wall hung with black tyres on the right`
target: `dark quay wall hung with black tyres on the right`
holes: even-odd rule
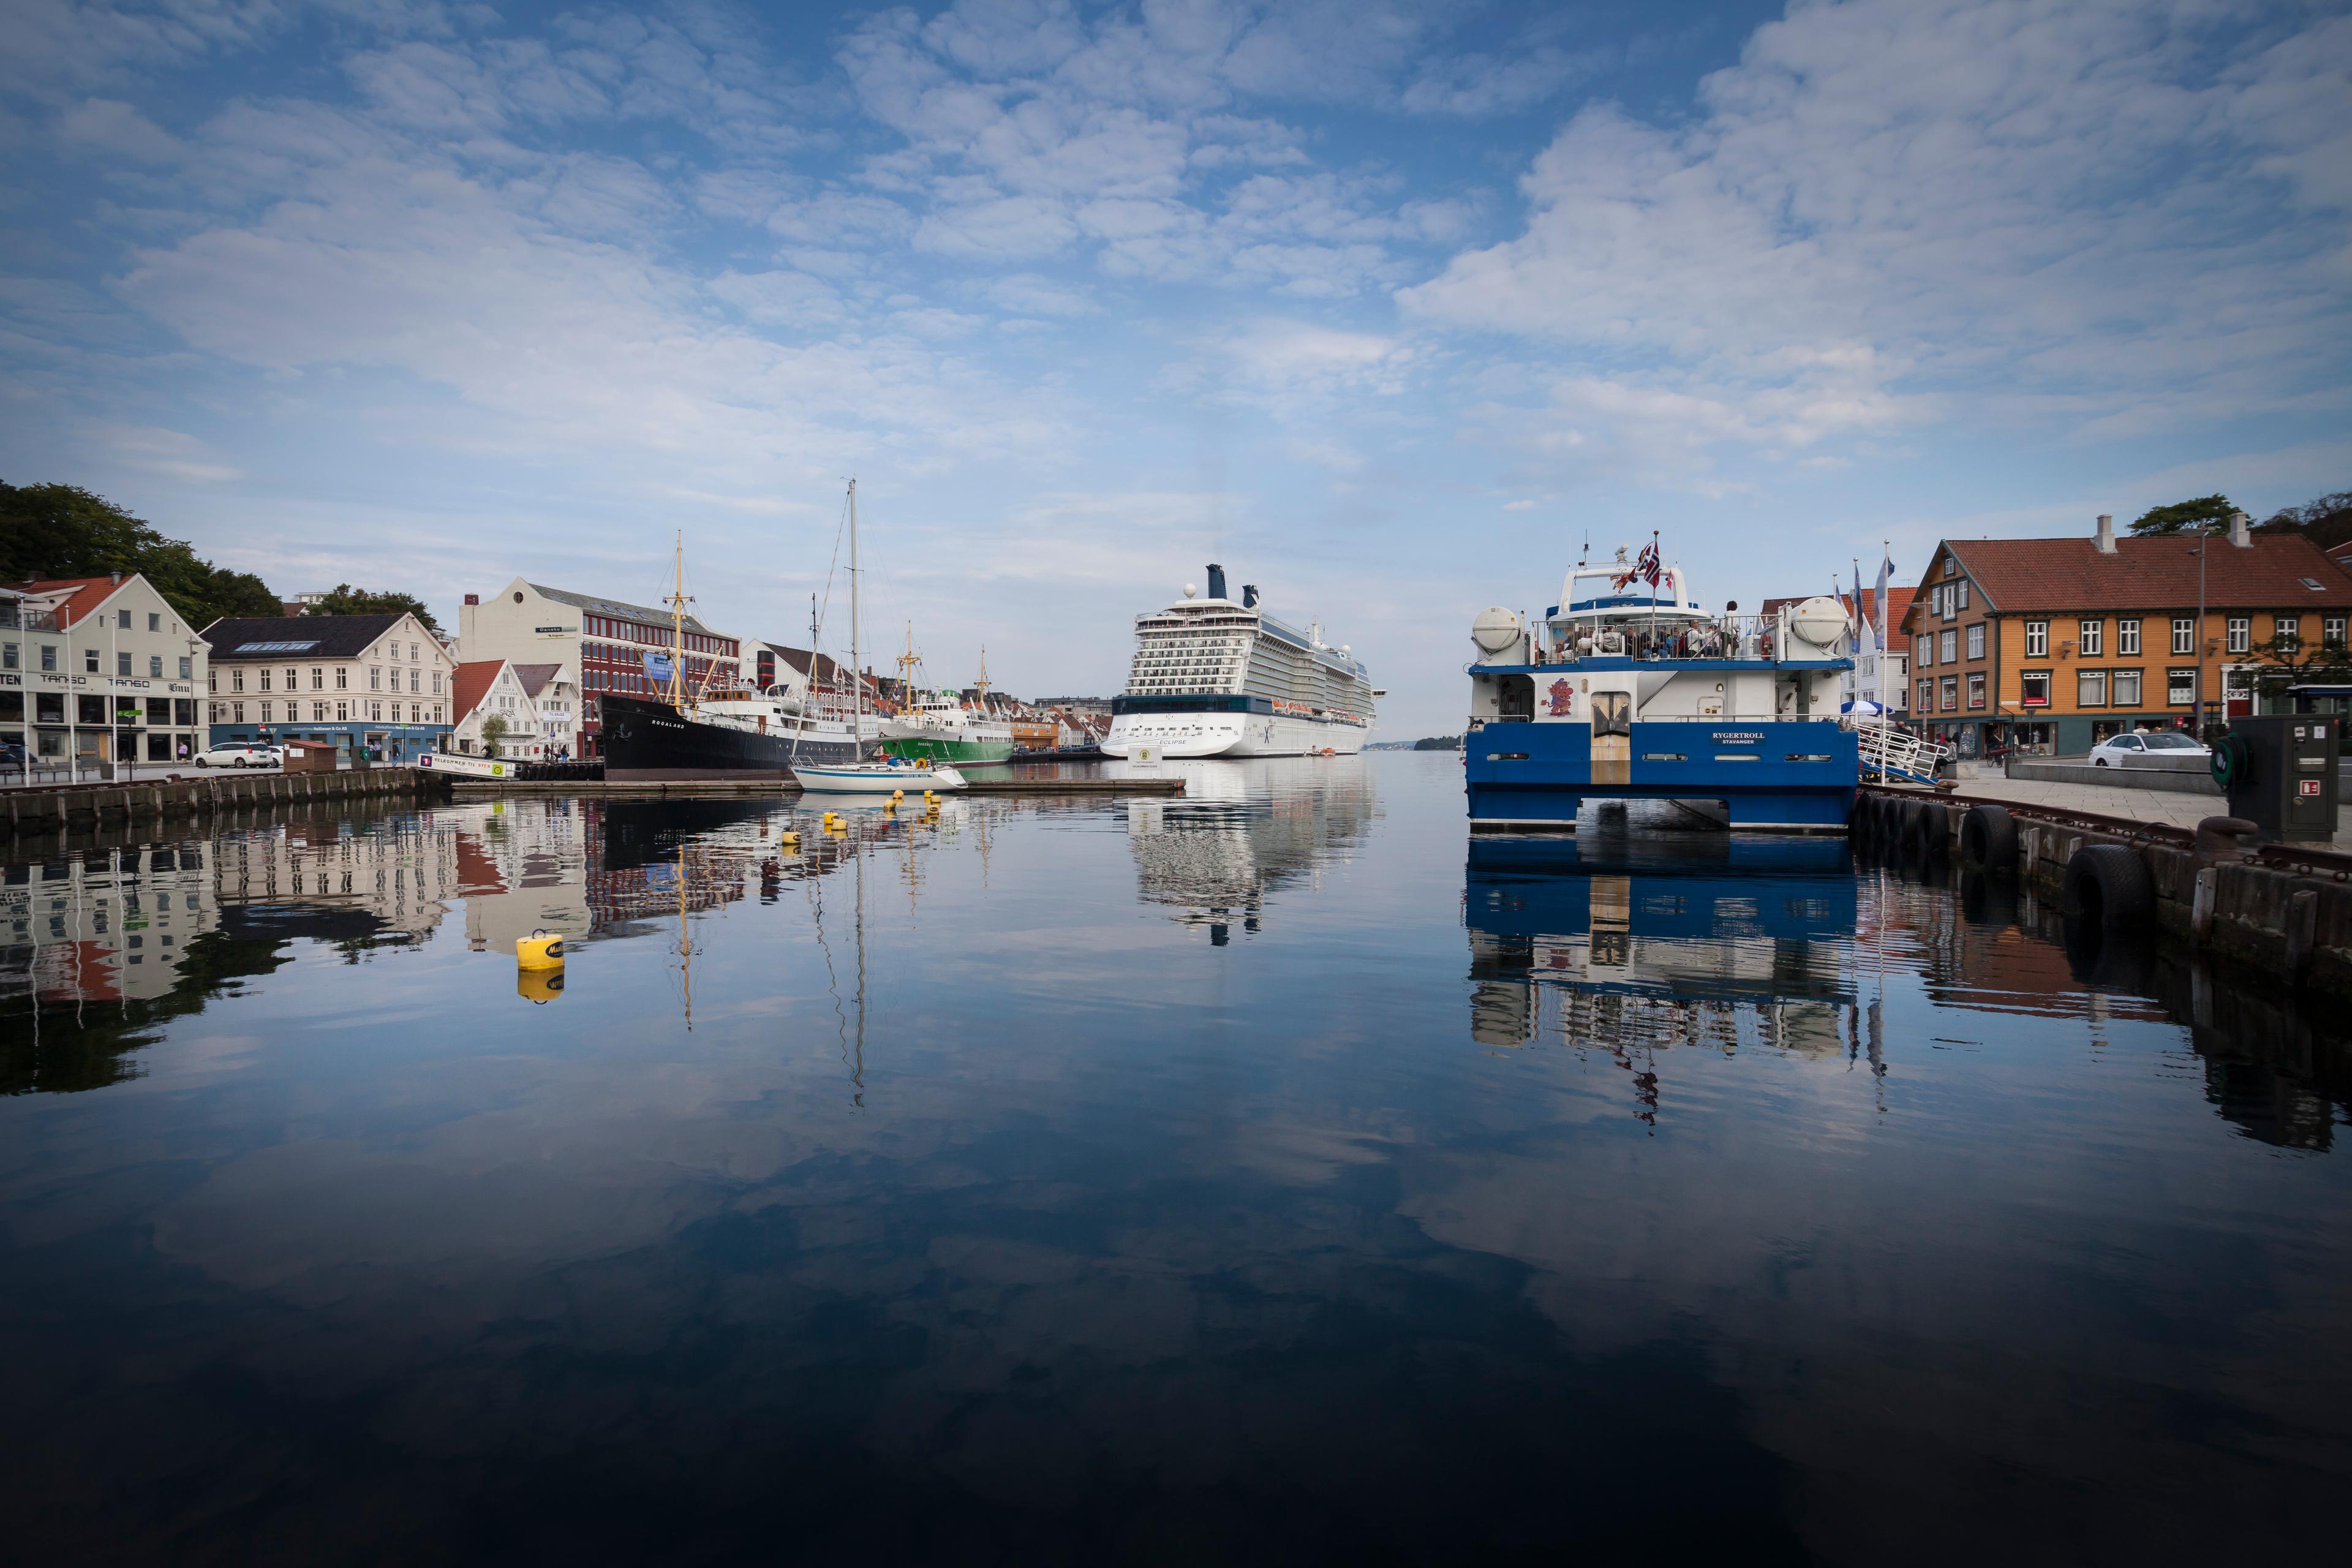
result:
[[[2296,990],[2352,997],[2352,844],[2256,839],[2253,823],[2211,811],[2194,825],[2169,816],[1865,785],[1851,835],[1858,851],[1919,867],[1959,863],[2056,896],[2091,940],[2187,943]]]

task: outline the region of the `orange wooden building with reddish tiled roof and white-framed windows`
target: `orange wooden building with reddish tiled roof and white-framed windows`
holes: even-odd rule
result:
[[[2199,588],[2201,571],[2201,588]],[[2199,625],[2199,602],[2204,623]],[[1962,757],[2074,755],[2129,729],[2251,712],[2256,646],[2343,646],[2352,574],[2300,534],[1947,538],[1898,623],[1912,722]]]

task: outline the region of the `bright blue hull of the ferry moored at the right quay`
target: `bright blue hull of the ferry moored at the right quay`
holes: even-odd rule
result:
[[[1491,722],[1463,743],[1479,832],[1573,832],[1588,799],[1712,799],[1733,830],[1844,832],[1858,771],[1853,731],[1820,719],[1637,719],[1602,759],[1590,724]]]

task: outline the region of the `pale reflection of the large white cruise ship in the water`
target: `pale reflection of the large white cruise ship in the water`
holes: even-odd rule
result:
[[[1127,806],[1136,893],[1218,947],[1235,926],[1258,931],[1270,893],[1315,886],[1324,865],[1352,858],[1378,811],[1362,757],[1162,766],[1185,792]]]

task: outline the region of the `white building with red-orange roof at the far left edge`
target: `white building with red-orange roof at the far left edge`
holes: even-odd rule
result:
[[[179,766],[207,654],[136,571],[0,585],[0,766]]]

